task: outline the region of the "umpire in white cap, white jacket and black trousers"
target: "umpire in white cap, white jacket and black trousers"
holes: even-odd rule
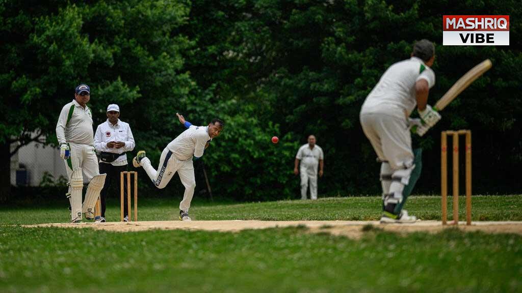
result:
[[[127,171],[127,154],[134,150],[135,142],[132,135],[131,127],[128,123],[123,122],[120,118],[120,107],[111,104],[107,107],[107,120],[98,125],[96,134],[94,135],[94,148],[100,153],[100,172],[106,173],[105,185],[101,191],[101,216],[95,218],[96,222],[105,222],[105,200],[107,192],[113,181],[118,182],[120,186],[120,172]],[[127,211],[127,185],[123,185],[125,196],[124,199],[124,219],[128,222]]]

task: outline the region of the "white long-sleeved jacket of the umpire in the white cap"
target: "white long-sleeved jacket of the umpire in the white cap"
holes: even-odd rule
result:
[[[125,146],[120,149],[108,148],[107,143],[111,141],[125,142]],[[128,123],[120,119],[118,119],[115,125],[107,119],[104,123],[98,125],[96,134],[94,135],[94,148],[96,148],[98,152],[121,154],[134,150],[135,145],[136,143],[134,142],[131,127]],[[105,163],[103,161],[100,161],[100,163],[112,164],[113,166],[127,165],[127,154],[117,157],[112,163]]]

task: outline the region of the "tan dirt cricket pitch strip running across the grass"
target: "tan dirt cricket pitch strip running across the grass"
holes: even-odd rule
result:
[[[25,225],[25,227],[61,227],[91,228],[116,232],[133,232],[151,229],[159,230],[206,230],[222,232],[238,232],[245,229],[266,229],[305,226],[310,233],[330,233],[350,238],[360,238],[364,230],[371,228],[405,234],[413,232],[436,233],[443,229],[458,227],[462,231],[483,231],[485,233],[514,233],[522,235],[522,222],[473,222],[466,226],[459,222],[458,226],[443,226],[439,221],[417,221],[412,224],[380,224],[378,221],[150,221],[150,222],[108,222],[108,223],[57,223]]]

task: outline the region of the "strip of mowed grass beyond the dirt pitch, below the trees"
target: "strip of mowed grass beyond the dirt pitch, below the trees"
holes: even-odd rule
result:
[[[120,206],[111,199],[108,221],[120,221]],[[381,216],[381,197],[326,198],[317,201],[275,201],[257,203],[193,202],[190,214],[196,220],[259,219],[291,220],[377,220]],[[0,224],[65,223],[69,221],[67,202],[46,206],[0,207]],[[441,219],[441,198],[413,196],[405,207],[424,220]],[[448,218],[452,219],[452,197],[448,197]],[[139,221],[177,220],[179,199],[139,199]],[[460,197],[459,218],[466,216],[465,197]],[[473,196],[473,221],[522,221],[522,195]]]

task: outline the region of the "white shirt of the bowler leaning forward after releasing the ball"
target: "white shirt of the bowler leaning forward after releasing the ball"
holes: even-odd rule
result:
[[[176,156],[177,160],[186,161],[192,160],[192,156],[203,156],[205,144],[209,141],[208,126],[191,125],[171,141],[167,148]]]

